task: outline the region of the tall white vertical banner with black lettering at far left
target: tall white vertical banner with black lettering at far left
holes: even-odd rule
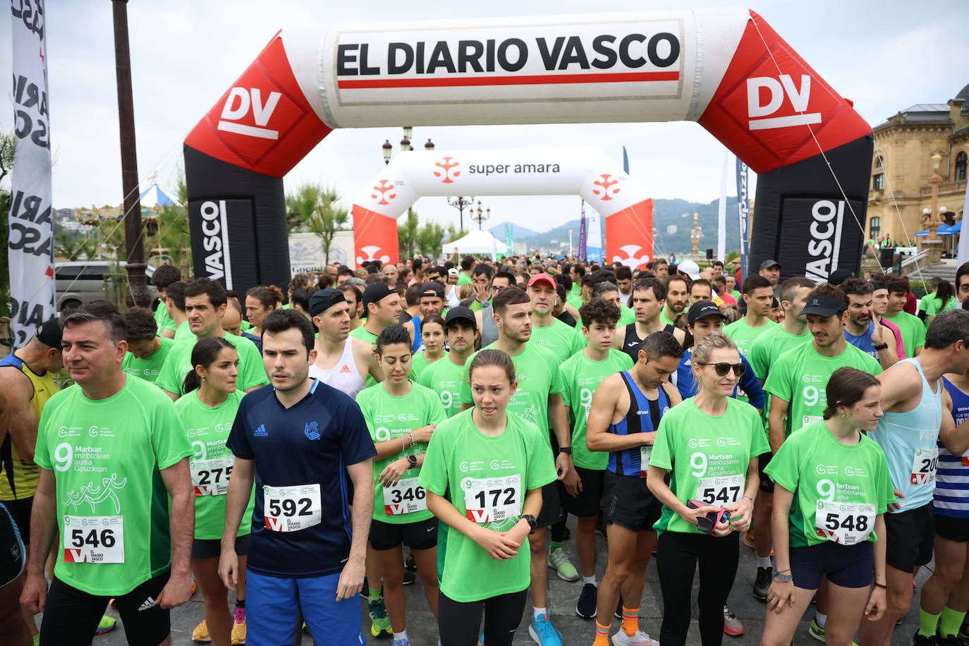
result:
[[[54,314],[44,4],[43,0],[11,4],[16,153],[8,252],[14,348],[29,341],[37,326]]]

